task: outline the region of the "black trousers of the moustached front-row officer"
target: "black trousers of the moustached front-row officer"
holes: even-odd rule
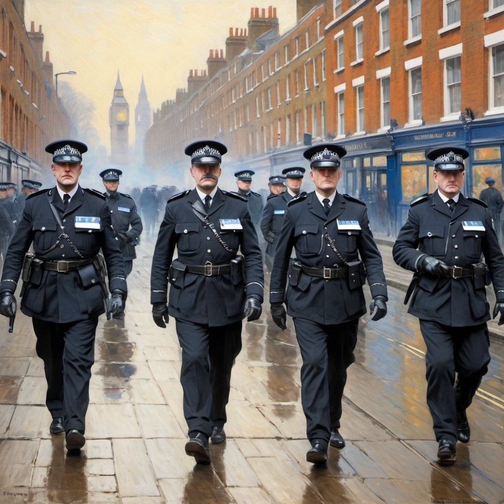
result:
[[[182,348],[180,383],[188,432],[211,435],[227,420],[231,368],[241,350],[241,321],[209,327],[176,320]]]

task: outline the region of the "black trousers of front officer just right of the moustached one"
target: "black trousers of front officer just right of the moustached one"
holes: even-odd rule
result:
[[[308,439],[329,441],[340,427],[347,367],[355,361],[359,320],[323,325],[293,318],[301,351],[301,403]]]

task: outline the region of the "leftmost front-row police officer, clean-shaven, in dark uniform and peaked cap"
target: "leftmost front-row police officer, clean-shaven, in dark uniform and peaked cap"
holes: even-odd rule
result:
[[[49,430],[66,432],[67,450],[74,453],[85,443],[95,332],[105,311],[100,248],[112,292],[111,313],[123,309],[127,287],[107,202],[79,185],[86,145],[59,140],[45,150],[52,154],[56,186],[26,198],[0,282],[0,313],[15,315],[14,292],[23,268],[21,311],[32,318],[37,355],[44,361]],[[34,256],[25,257],[32,242]]]

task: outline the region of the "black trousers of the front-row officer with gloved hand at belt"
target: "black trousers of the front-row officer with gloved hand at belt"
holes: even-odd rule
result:
[[[427,353],[427,405],[436,441],[457,441],[457,411],[465,410],[488,370],[490,340],[486,324],[450,327],[420,320]],[[455,372],[458,373],[454,392]]]

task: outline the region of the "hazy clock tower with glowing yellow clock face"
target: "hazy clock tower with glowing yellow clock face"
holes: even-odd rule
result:
[[[110,161],[117,165],[128,164],[130,106],[124,98],[119,72],[117,72],[108,122],[110,124]]]

